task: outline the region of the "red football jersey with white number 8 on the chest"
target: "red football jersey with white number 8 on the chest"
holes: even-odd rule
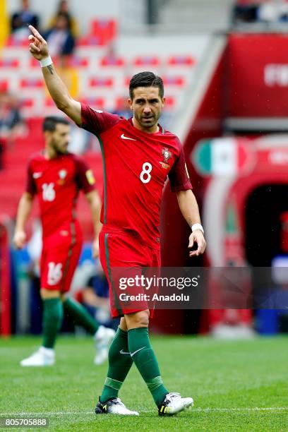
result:
[[[82,127],[100,140],[104,169],[101,222],[132,230],[160,247],[160,205],[169,177],[172,191],[191,189],[184,152],[173,133],[145,133],[115,114],[82,104]]]

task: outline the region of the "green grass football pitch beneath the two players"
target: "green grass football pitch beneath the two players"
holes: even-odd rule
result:
[[[140,416],[95,416],[107,364],[92,364],[92,340],[59,337],[55,366],[21,368],[39,344],[0,339],[0,416],[46,416],[49,431],[288,431],[287,337],[152,337],[167,388],[195,401],[191,411],[165,418],[135,367],[119,396]]]

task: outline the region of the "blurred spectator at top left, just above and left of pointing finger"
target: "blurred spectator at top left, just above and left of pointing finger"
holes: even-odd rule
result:
[[[29,0],[21,0],[20,11],[13,13],[11,17],[11,33],[19,39],[27,37],[30,34],[28,24],[38,28],[39,18],[30,10]]]

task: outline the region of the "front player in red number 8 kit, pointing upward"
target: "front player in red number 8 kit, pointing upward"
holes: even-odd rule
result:
[[[100,233],[100,260],[109,280],[112,316],[121,316],[109,349],[109,368],[96,414],[138,415],[125,407],[118,392],[134,363],[150,390],[160,415],[173,415],[193,405],[164,387],[148,335],[148,307],[119,304],[113,268],[160,266],[160,203],[169,177],[179,208],[191,226],[190,256],[205,250],[203,227],[186,170],[179,139],[158,124],[164,106],[162,79],[151,72],[138,73],[129,85],[133,118],[92,109],[73,100],[57,75],[47,42],[30,26],[30,52],[40,61],[47,88],[57,107],[100,140],[104,167],[104,202]],[[139,306],[139,305],[138,305]]]

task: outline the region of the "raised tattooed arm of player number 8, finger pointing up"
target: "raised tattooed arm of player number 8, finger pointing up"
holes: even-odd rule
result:
[[[69,95],[66,85],[63,83],[59,75],[56,73],[52,59],[49,56],[49,47],[32,25],[29,25],[32,35],[29,36],[30,42],[30,53],[32,56],[42,61],[42,73],[44,76],[47,89],[54,100],[57,108],[65,112],[76,124],[81,124],[81,104],[80,102],[73,100]],[[44,66],[44,67],[43,67]]]

